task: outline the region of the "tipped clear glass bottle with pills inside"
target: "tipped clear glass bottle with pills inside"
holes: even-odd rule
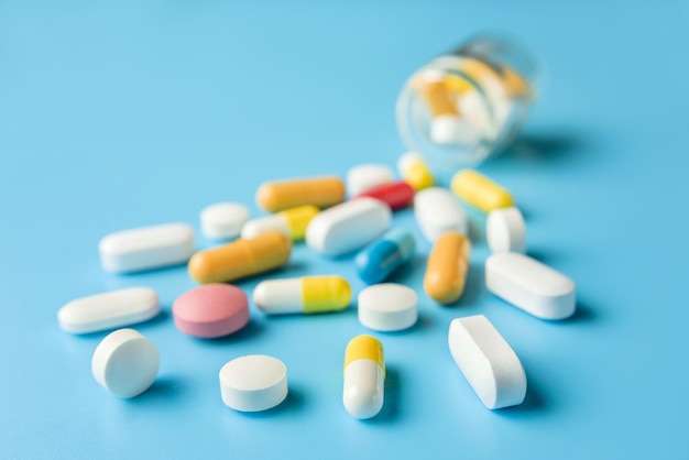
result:
[[[440,171],[478,165],[518,133],[536,96],[536,63],[518,44],[477,36],[419,68],[397,99],[411,151]]]

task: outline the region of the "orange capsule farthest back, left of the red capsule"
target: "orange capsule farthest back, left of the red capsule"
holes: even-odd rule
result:
[[[270,212],[302,205],[327,208],[342,202],[344,193],[344,183],[335,176],[269,182],[259,187],[256,202]]]

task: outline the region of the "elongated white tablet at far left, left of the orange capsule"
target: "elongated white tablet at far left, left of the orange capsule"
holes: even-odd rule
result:
[[[100,263],[107,272],[127,273],[177,265],[194,254],[194,230],[166,223],[110,233],[100,240]]]

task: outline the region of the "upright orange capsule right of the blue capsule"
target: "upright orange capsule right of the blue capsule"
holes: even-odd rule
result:
[[[471,243],[458,231],[438,238],[428,255],[424,291],[440,304],[451,304],[464,292]]]

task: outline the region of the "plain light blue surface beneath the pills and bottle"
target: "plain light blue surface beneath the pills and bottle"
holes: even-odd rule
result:
[[[0,457],[687,458],[687,2],[0,2]],[[396,92],[417,66],[483,30],[546,65],[518,143],[481,171],[523,207],[529,252],[576,280],[578,313],[533,318],[483,287],[474,216],[467,292],[420,296],[420,321],[376,335],[389,365],[379,417],[341,405],[356,310],[266,318],[222,340],[177,331],[184,267],[114,276],[98,240],[253,202],[265,179],[336,173],[402,153]],[[254,216],[258,210],[254,208]],[[411,210],[395,223],[419,237]],[[201,238],[199,247],[210,245]],[[424,261],[397,274],[419,289]],[[298,247],[280,275],[351,260]],[[259,280],[240,283],[251,289]],[[55,314],[88,294],[147,285],[165,313],[138,329],[157,382],[119,401],[90,375],[105,333]],[[450,319],[484,314],[521,357],[526,402],[490,412],[451,361]],[[220,402],[218,371],[244,353],[288,368],[269,413]]]

